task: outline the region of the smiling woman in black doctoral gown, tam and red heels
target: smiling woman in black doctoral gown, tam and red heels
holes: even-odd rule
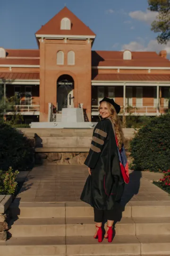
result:
[[[107,219],[105,238],[112,241],[116,205],[119,204],[128,183],[128,165],[123,146],[123,132],[118,113],[120,106],[113,99],[100,101],[98,122],[93,131],[89,154],[85,160],[89,176],[81,194],[81,200],[94,208],[96,233],[94,238],[102,242],[102,221]]]

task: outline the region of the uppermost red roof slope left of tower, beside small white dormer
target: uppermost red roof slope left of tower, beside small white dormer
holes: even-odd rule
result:
[[[39,49],[5,49],[7,57],[40,57]]]

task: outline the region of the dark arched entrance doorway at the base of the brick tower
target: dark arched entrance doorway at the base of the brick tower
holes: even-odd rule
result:
[[[64,74],[57,80],[57,111],[63,108],[74,108],[74,80],[72,76]]]

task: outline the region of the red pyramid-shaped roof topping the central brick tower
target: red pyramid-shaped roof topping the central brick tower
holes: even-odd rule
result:
[[[70,30],[61,30],[60,22],[62,18],[71,20]],[[42,26],[35,34],[39,35],[77,35],[77,36],[95,36],[93,31],[87,27],[79,18],[76,17],[67,7],[59,11],[50,21]]]

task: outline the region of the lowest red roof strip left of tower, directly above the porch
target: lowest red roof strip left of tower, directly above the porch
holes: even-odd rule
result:
[[[40,79],[39,73],[0,73],[0,79],[19,80],[19,79]]]

